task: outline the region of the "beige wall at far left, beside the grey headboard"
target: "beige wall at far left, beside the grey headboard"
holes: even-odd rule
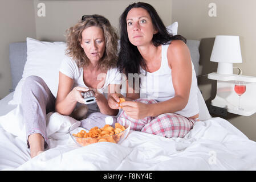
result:
[[[9,44],[36,37],[34,5],[31,0],[0,1],[0,99],[12,88]]]

